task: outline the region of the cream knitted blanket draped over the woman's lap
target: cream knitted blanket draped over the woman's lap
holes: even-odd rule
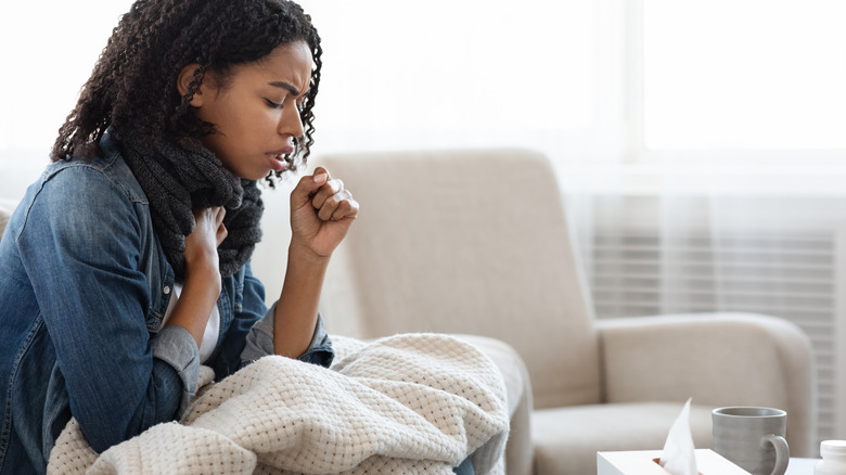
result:
[[[266,357],[198,391],[180,422],[98,457],[75,420],[56,474],[503,474],[509,418],[496,365],[467,343],[406,334],[333,336],[331,369]]]

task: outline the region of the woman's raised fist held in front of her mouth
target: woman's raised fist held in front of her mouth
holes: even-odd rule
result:
[[[325,168],[303,177],[291,192],[292,247],[329,258],[358,215],[358,202]]]

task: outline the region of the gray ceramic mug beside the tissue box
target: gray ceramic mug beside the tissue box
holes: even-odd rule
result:
[[[738,406],[712,411],[714,451],[753,475],[784,475],[790,450],[781,409]]]

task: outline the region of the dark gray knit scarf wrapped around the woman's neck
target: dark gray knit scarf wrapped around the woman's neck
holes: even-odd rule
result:
[[[210,151],[187,150],[169,141],[145,149],[120,137],[124,159],[146,194],[153,228],[174,268],[177,282],[185,278],[185,236],[194,230],[193,208],[223,206],[227,239],[218,247],[220,275],[243,267],[261,240],[259,220],[265,207],[255,180],[235,177]]]

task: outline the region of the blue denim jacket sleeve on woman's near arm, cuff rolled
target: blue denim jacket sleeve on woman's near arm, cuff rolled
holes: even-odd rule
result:
[[[79,165],[46,180],[26,205],[22,262],[91,447],[102,451],[172,420],[196,384],[198,356],[187,332],[150,337],[150,291],[138,264],[152,239],[139,218],[142,197]]]

